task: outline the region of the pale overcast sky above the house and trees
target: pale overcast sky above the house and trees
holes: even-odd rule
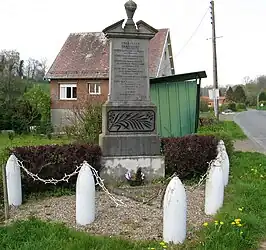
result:
[[[209,0],[135,0],[134,20],[170,28],[176,73],[205,70],[212,84]],[[125,0],[0,0],[0,50],[49,66],[71,32],[102,31],[126,17]],[[198,27],[196,34],[188,39]],[[266,0],[215,0],[218,82],[241,84],[266,74]],[[187,44],[185,47],[184,45]],[[183,49],[182,49],[183,48]],[[181,52],[180,52],[181,50]]]

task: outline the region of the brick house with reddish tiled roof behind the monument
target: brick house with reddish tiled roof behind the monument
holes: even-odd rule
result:
[[[169,29],[159,29],[150,41],[150,78],[175,74]],[[104,102],[109,92],[109,42],[102,32],[71,33],[48,70],[51,119],[55,128],[67,125],[71,109],[90,99]]]

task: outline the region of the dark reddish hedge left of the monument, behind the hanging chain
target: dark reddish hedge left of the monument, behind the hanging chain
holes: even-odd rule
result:
[[[16,147],[10,150],[23,162],[25,168],[43,179],[61,179],[65,174],[71,174],[83,161],[87,161],[97,171],[101,170],[101,149],[97,145],[68,144]],[[32,177],[22,170],[23,194],[38,193],[55,188],[54,184],[44,184],[34,181]],[[60,182],[56,187],[73,188],[77,175],[71,177],[69,182]]]

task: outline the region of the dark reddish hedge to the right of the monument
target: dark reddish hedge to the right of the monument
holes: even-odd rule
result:
[[[218,139],[212,135],[162,138],[161,141],[166,175],[176,172],[181,180],[205,174],[208,162],[217,156]]]

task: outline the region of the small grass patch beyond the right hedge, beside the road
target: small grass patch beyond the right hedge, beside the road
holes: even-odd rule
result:
[[[234,121],[219,121],[217,124],[202,126],[198,129],[198,134],[212,132],[227,133],[234,140],[244,140],[247,136]]]

